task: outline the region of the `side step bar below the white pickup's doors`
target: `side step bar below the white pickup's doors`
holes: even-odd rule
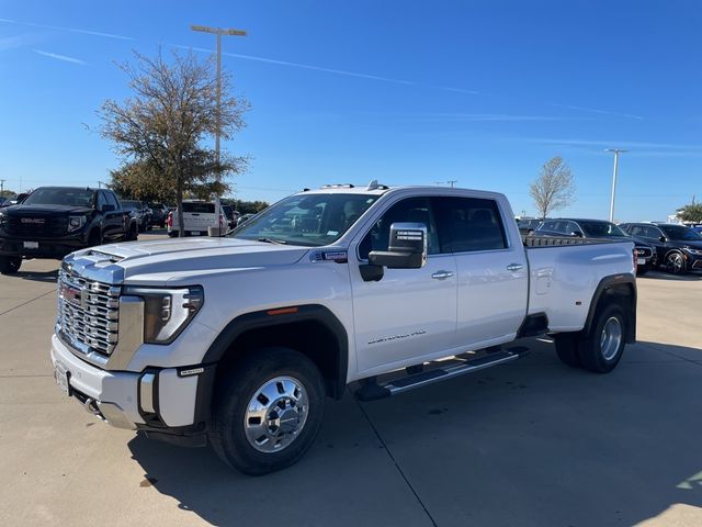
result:
[[[445,381],[466,373],[473,373],[474,371],[484,370],[485,368],[490,368],[492,366],[511,362],[526,354],[529,354],[528,348],[514,347],[503,351],[484,355],[483,357],[472,360],[465,360],[457,357],[457,362],[452,361],[446,367],[433,368],[428,371],[422,371],[421,373],[389,380],[380,384],[375,382],[374,379],[369,379],[361,389],[354,392],[354,395],[360,401],[376,401],[378,399],[389,397],[390,395],[414,390],[415,388],[426,386],[428,384],[433,384],[434,382]]]

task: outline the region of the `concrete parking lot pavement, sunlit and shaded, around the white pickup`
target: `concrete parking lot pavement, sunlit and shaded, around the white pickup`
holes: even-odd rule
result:
[[[249,478],[63,395],[57,266],[0,277],[0,525],[702,525],[702,276],[638,279],[638,344],[610,374],[528,339],[516,363],[330,401],[298,464]]]

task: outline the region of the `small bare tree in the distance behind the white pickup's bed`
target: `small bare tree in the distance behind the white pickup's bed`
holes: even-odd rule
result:
[[[575,201],[575,182],[570,167],[561,156],[552,157],[541,167],[539,178],[529,187],[529,193],[542,220],[550,212],[568,206]]]

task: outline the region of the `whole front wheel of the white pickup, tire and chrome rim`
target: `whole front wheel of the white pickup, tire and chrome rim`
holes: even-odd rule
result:
[[[224,375],[210,431],[217,455],[252,475],[298,461],[324,416],[325,389],[315,363],[288,348],[263,348]]]

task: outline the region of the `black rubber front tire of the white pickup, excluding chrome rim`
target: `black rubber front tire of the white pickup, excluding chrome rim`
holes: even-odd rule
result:
[[[210,431],[210,440],[219,458],[230,467],[251,475],[274,472],[298,461],[315,441],[324,417],[325,388],[315,363],[304,355],[288,348],[262,348],[245,357],[225,375],[226,378],[220,379],[217,389],[216,401],[218,403],[214,410]],[[295,434],[283,433],[282,429],[286,426],[283,424],[280,427],[275,425],[261,427],[265,430],[278,430],[281,434],[281,439],[270,441],[262,433],[262,442],[259,448],[256,448],[251,442],[256,442],[256,440],[247,437],[245,426],[247,408],[249,404],[256,404],[256,401],[267,408],[263,411],[267,415],[274,415],[279,411],[280,404],[288,404],[285,401],[290,401],[290,399],[285,399],[284,394],[280,395],[282,403],[273,403],[265,396],[261,400],[259,399],[261,395],[253,399],[257,393],[263,391],[267,383],[276,378],[293,379],[295,383],[298,383],[298,386],[304,388],[302,393],[306,392],[307,396],[307,407],[303,414],[305,418],[302,428]],[[276,393],[282,393],[280,382],[273,385],[278,389]],[[301,393],[301,391],[296,393]],[[270,406],[265,406],[267,404]],[[298,405],[297,408],[299,407],[304,406]],[[268,408],[270,408],[270,414],[268,414]],[[278,417],[282,423],[285,422],[286,415],[293,416],[288,417],[287,422],[299,419],[301,414],[297,408],[291,406],[285,411],[286,414],[281,414]],[[257,434],[256,427],[260,426],[260,417],[250,417],[249,423],[251,423],[250,430],[252,430],[250,434]],[[280,450],[261,451],[271,445],[278,445],[278,441],[285,440],[290,442]]]

